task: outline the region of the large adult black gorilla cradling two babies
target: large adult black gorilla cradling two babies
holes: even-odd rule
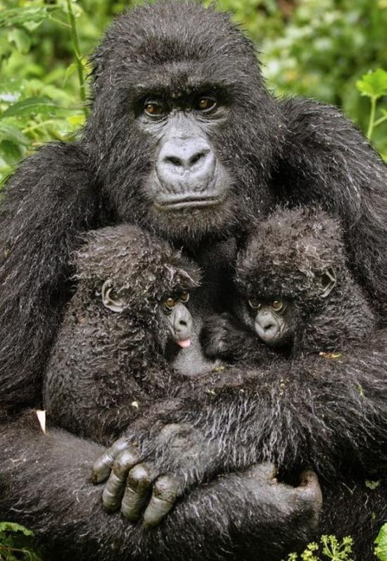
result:
[[[80,231],[128,221],[183,245],[204,270],[206,292],[196,302],[204,318],[227,308],[231,271],[218,242],[243,236],[250,217],[275,202],[318,202],[341,217],[350,266],[383,321],[385,186],[381,161],[336,110],[269,95],[253,45],[226,15],[166,1],[119,18],[94,56],[83,140],[30,157],[8,182],[1,207],[0,517],[36,529],[56,560],[267,561],[308,539],[313,486],[273,484],[267,465],[196,488],[158,529],[144,531],[103,512],[101,489],[87,483],[100,446],[60,431],[46,437],[18,413],[39,405]],[[176,419],[191,415],[219,444],[219,453],[208,447],[194,474],[211,479],[261,459],[281,460],[289,470],[311,461],[334,475],[325,486],[329,523],[338,520],[357,535],[383,516],[380,499],[387,504],[383,485],[374,501],[362,472],[367,459],[372,468],[387,459],[386,354],[379,342],[375,352],[362,349],[334,366],[306,363],[295,374],[289,365],[296,388],[284,391],[270,373],[273,392],[246,387],[246,401],[226,392],[228,405],[209,403],[202,415],[184,403]],[[319,369],[337,386],[313,394]],[[310,384],[300,396],[305,374]],[[257,446],[247,453],[246,441],[262,445],[261,453]],[[353,469],[345,485],[343,452]],[[335,517],[337,497],[345,497],[345,513],[338,509]],[[363,551],[362,559],[369,555]]]

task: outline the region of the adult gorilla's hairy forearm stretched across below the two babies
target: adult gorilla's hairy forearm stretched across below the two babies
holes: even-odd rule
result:
[[[356,485],[363,486],[367,470],[387,461],[386,342],[387,333],[381,331],[343,356],[307,356],[260,370],[229,368],[206,383],[200,380],[179,411],[163,418],[163,423],[175,424],[160,432],[160,424],[152,419],[153,429],[139,436],[141,456],[153,461],[157,474],[182,480],[184,489],[260,461],[274,462],[281,472],[296,475],[310,465],[319,475],[344,484],[345,474],[353,470]],[[103,480],[106,470],[110,466],[105,455],[95,465],[95,479]],[[137,504],[146,506],[148,498],[141,497],[136,477],[129,477],[128,488],[137,494]],[[111,483],[112,475],[110,489]],[[118,494],[125,484],[124,477]],[[179,495],[179,484],[172,482],[170,492],[176,489]],[[147,486],[146,494],[149,490]],[[156,481],[151,510],[159,496]],[[374,496],[386,503],[384,489]],[[370,517],[371,505],[372,501],[367,508],[357,505],[356,512],[364,510],[364,517]],[[326,508],[333,514],[336,504]],[[123,510],[127,514],[127,504]],[[133,514],[132,501],[129,515]],[[357,524],[355,517],[350,520]]]

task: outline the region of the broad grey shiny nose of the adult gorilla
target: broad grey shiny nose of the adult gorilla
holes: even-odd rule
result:
[[[167,186],[175,186],[177,181],[187,183],[208,183],[215,171],[215,154],[204,139],[189,141],[170,140],[158,154],[156,170],[159,179]]]

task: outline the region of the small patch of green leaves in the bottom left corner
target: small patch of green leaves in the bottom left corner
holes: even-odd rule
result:
[[[42,561],[34,533],[14,522],[0,522],[0,561]]]

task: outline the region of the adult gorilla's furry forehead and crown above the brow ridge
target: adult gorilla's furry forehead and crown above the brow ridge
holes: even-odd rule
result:
[[[164,74],[168,83],[175,69],[179,84],[184,77],[182,63],[187,61],[186,78],[190,76],[193,84],[205,77],[228,84],[251,79],[256,68],[253,43],[229,15],[191,1],[161,1],[121,15],[94,56],[97,65],[102,58],[111,70],[126,70],[130,82],[136,84],[152,78],[150,65],[153,77]]]

